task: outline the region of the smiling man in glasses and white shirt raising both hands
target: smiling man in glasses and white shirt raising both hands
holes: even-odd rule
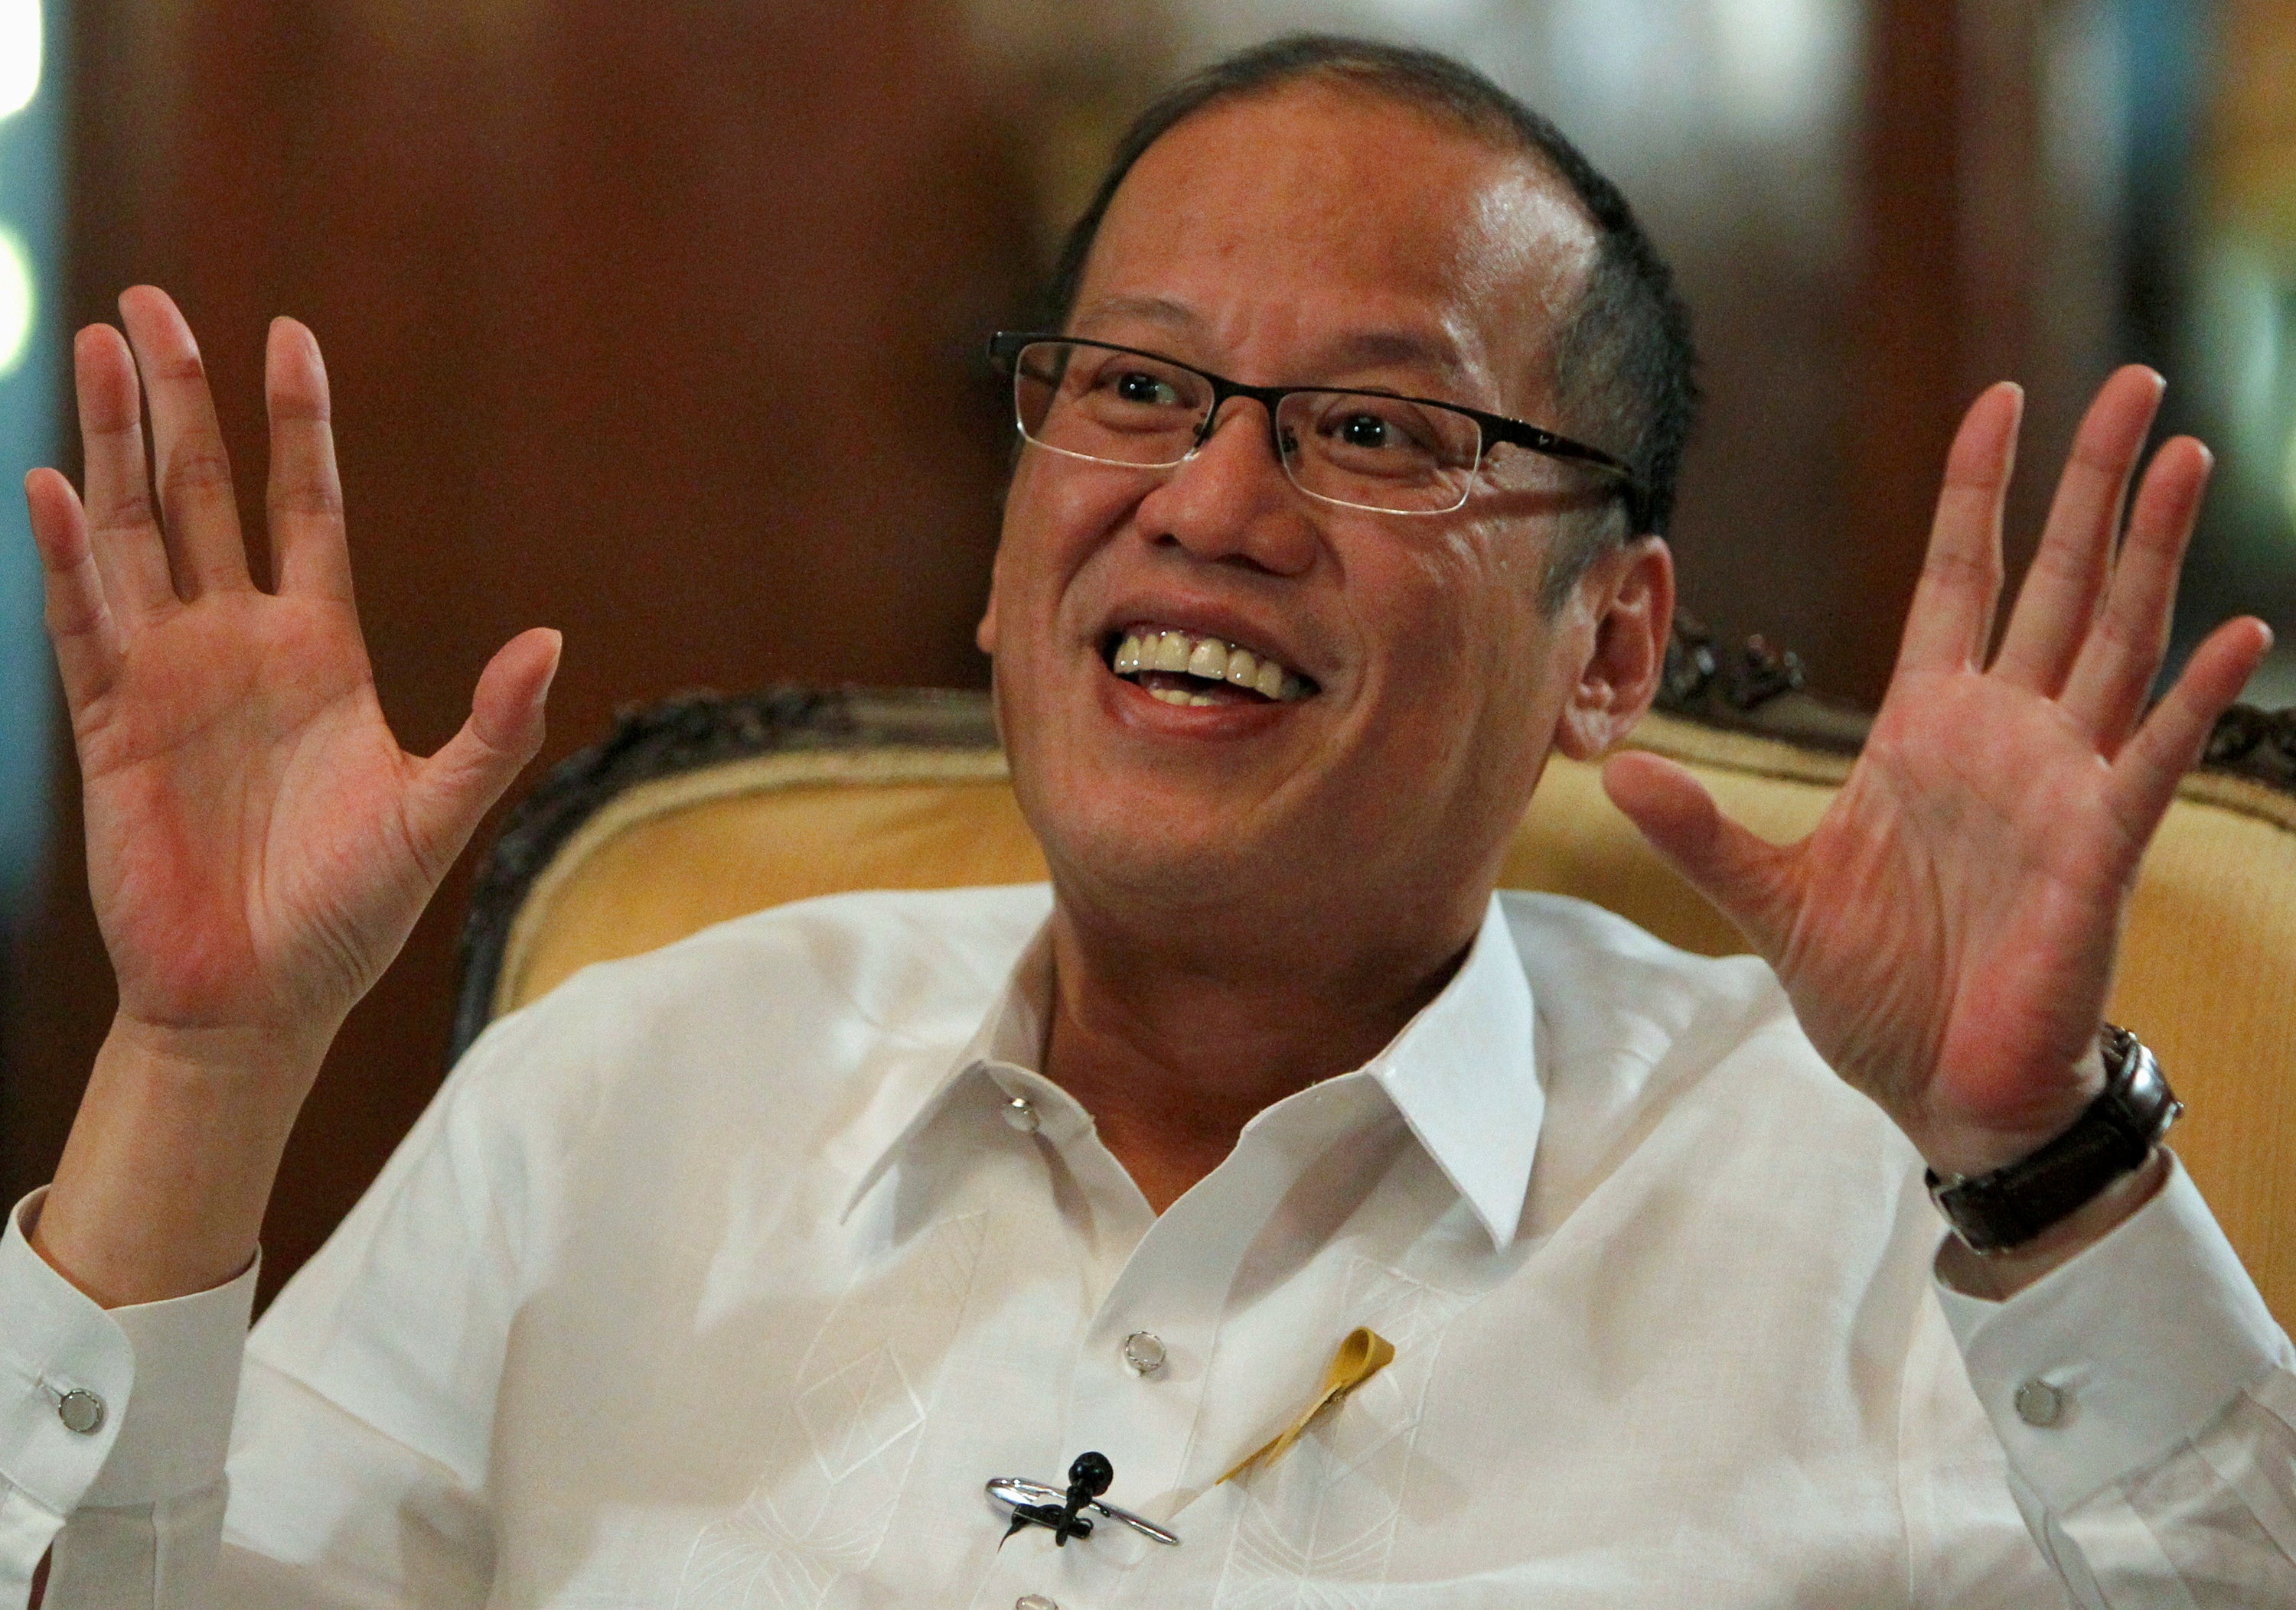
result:
[[[308,333],[278,596],[181,319],[122,298],[158,521],[83,333],[85,514],[30,498],[122,1007],[0,1259],[11,1580],[60,1539],[51,1603],[2296,1601],[2296,1360],[2154,1128],[1998,1177],[2087,1133],[2138,855],[2268,642],[2142,716],[2206,479],[2163,447],[2115,560],[2158,378],[2101,392],[1991,670],[2018,397],[1977,401],[1812,839],[1609,764],[1768,968],[1715,963],[1492,897],[1548,755],[1660,674],[1688,351],[1614,193],[1463,69],[1293,41],[1150,115],[1070,268],[999,342],[980,626],[1052,892],[767,913],[496,1025],[243,1378],[296,1103],[556,642],[400,755]],[[1938,1250],[1922,1160],[2004,1252]],[[1006,1534],[983,1482],[1086,1449],[1176,1543]]]

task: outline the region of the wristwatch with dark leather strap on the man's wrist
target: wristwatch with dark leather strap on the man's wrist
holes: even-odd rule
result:
[[[2069,1131],[1991,1174],[1929,1170],[1929,1197],[1970,1252],[2009,1252],[2087,1206],[2115,1179],[2142,1167],[2183,1112],[2161,1062],[2135,1034],[2108,1023],[2099,1050],[2105,1087]]]

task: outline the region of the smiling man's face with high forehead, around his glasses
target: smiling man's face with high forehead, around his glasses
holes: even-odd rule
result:
[[[1534,163],[1288,87],[1148,149],[1068,333],[1561,427],[1550,344],[1591,250]],[[1063,904],[1244,913],[1242,949],[1479,913],[1587,661],[1587,610],[1550,619],[1541,580],[1559,516],[1598,498],[1502,447],[1456,514],[1334,507],[1286,479],[1254,401],[1176,470],[1026,447],[980,647]],[[1143,633],[1247,649],[1304,697],[1118,677]],[[1215,702],[1169,702],[1189,693]]]

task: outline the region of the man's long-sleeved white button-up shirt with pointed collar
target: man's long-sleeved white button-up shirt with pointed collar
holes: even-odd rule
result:
[[[51,1543],[51,1610],[2296,1605],[2296,1353],[2181,1170],[1952,1294],[1766,966],[1499,894],[1155,1216],[1035,1071],[1047,910],[845,894],[583,972],[253,1339],[253,1271],[106,1314],[28,1199],[0,1605]],[[1394,1362],[1221,1482],[1357,1326]],[[1006,1541],[983,1484],[1084,1449],[1180,1546]]]

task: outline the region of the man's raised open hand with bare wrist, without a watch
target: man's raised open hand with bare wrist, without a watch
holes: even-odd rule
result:
[[[41,1245],[108,1294],[140,1284],[113,1257],[135,1193],[110,1177],[149,1165],[161,1140],[230,1151],[234,1126],[255,1131],[248,1144],[269,1156],[207,1163],[225,1174],[253,1163],[269,1193],[276,1147],[342,1016],[540,745],[558,665],[556,633],[523,633],[487,665],[452,743],[429,759],[402,752],[358,631],[310,330],[278,319],[266,351],[278,560],[266,594],[248,573],[191,328],[149,287],[119,310],[126,342],[92,326],[73,349],[85,502],[55,470],[25,482],[80,759],[90,890],[119,975],[119,1016]],[[200,1172],[181,1156],[177,1167]],[[207,1261],[230,1257],[216,1248]]]

